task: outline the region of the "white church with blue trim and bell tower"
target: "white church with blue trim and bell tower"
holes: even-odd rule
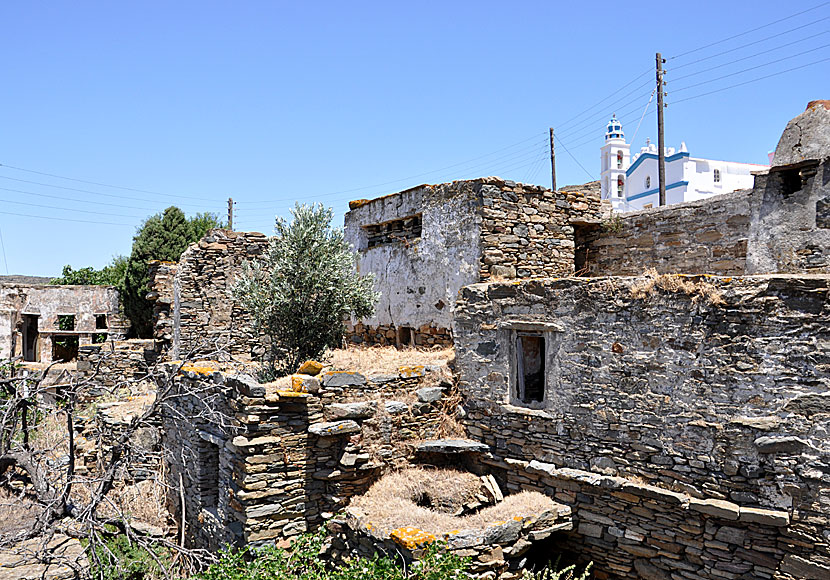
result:
[[[631,157],[622,124],[616,116],[608,122],[602,146],[602,199],[611,201],[614,211],[625,212],[660,205],[657,176],[657,146],[646,143]],[[695,201],[753,186],[753,172],[768,165],[714,161],[689,155],[686,144],[666,148],[666,204]]]

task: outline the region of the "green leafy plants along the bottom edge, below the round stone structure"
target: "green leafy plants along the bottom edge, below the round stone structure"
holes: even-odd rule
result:
[[[273,546],[225,551],[219,562],[197,576],[201,580],[453,580],[466,578],[469,559],[433,544],[425,555],[403,567],[386,557],[352,558],[328,567],[320,557],[324,535],[304,535],[290,549]]]

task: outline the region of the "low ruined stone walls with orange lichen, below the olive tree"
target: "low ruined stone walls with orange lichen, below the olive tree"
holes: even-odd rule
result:
[[[285,539],[406,465],[446,415],[449,385],[424,386],[433,372],[296,375],[294,391],[183,367],[182,396],[164,413],[164,447],[177,520],[184,489],[189,544]]]

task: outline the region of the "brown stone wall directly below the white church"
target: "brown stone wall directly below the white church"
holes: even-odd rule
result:
[[[752,214],[751,190],[701,201],[614,214],[578,232],[585,252],[580,274],[660,273],[741,275]]]

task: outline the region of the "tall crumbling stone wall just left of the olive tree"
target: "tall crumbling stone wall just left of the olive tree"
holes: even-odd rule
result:
[[[231,289],[242,264],[259,256],[267,244],[257,232],[211,230],[184,251],[173,281],[172,358],[223,349],[250,360],[264,350]]]

